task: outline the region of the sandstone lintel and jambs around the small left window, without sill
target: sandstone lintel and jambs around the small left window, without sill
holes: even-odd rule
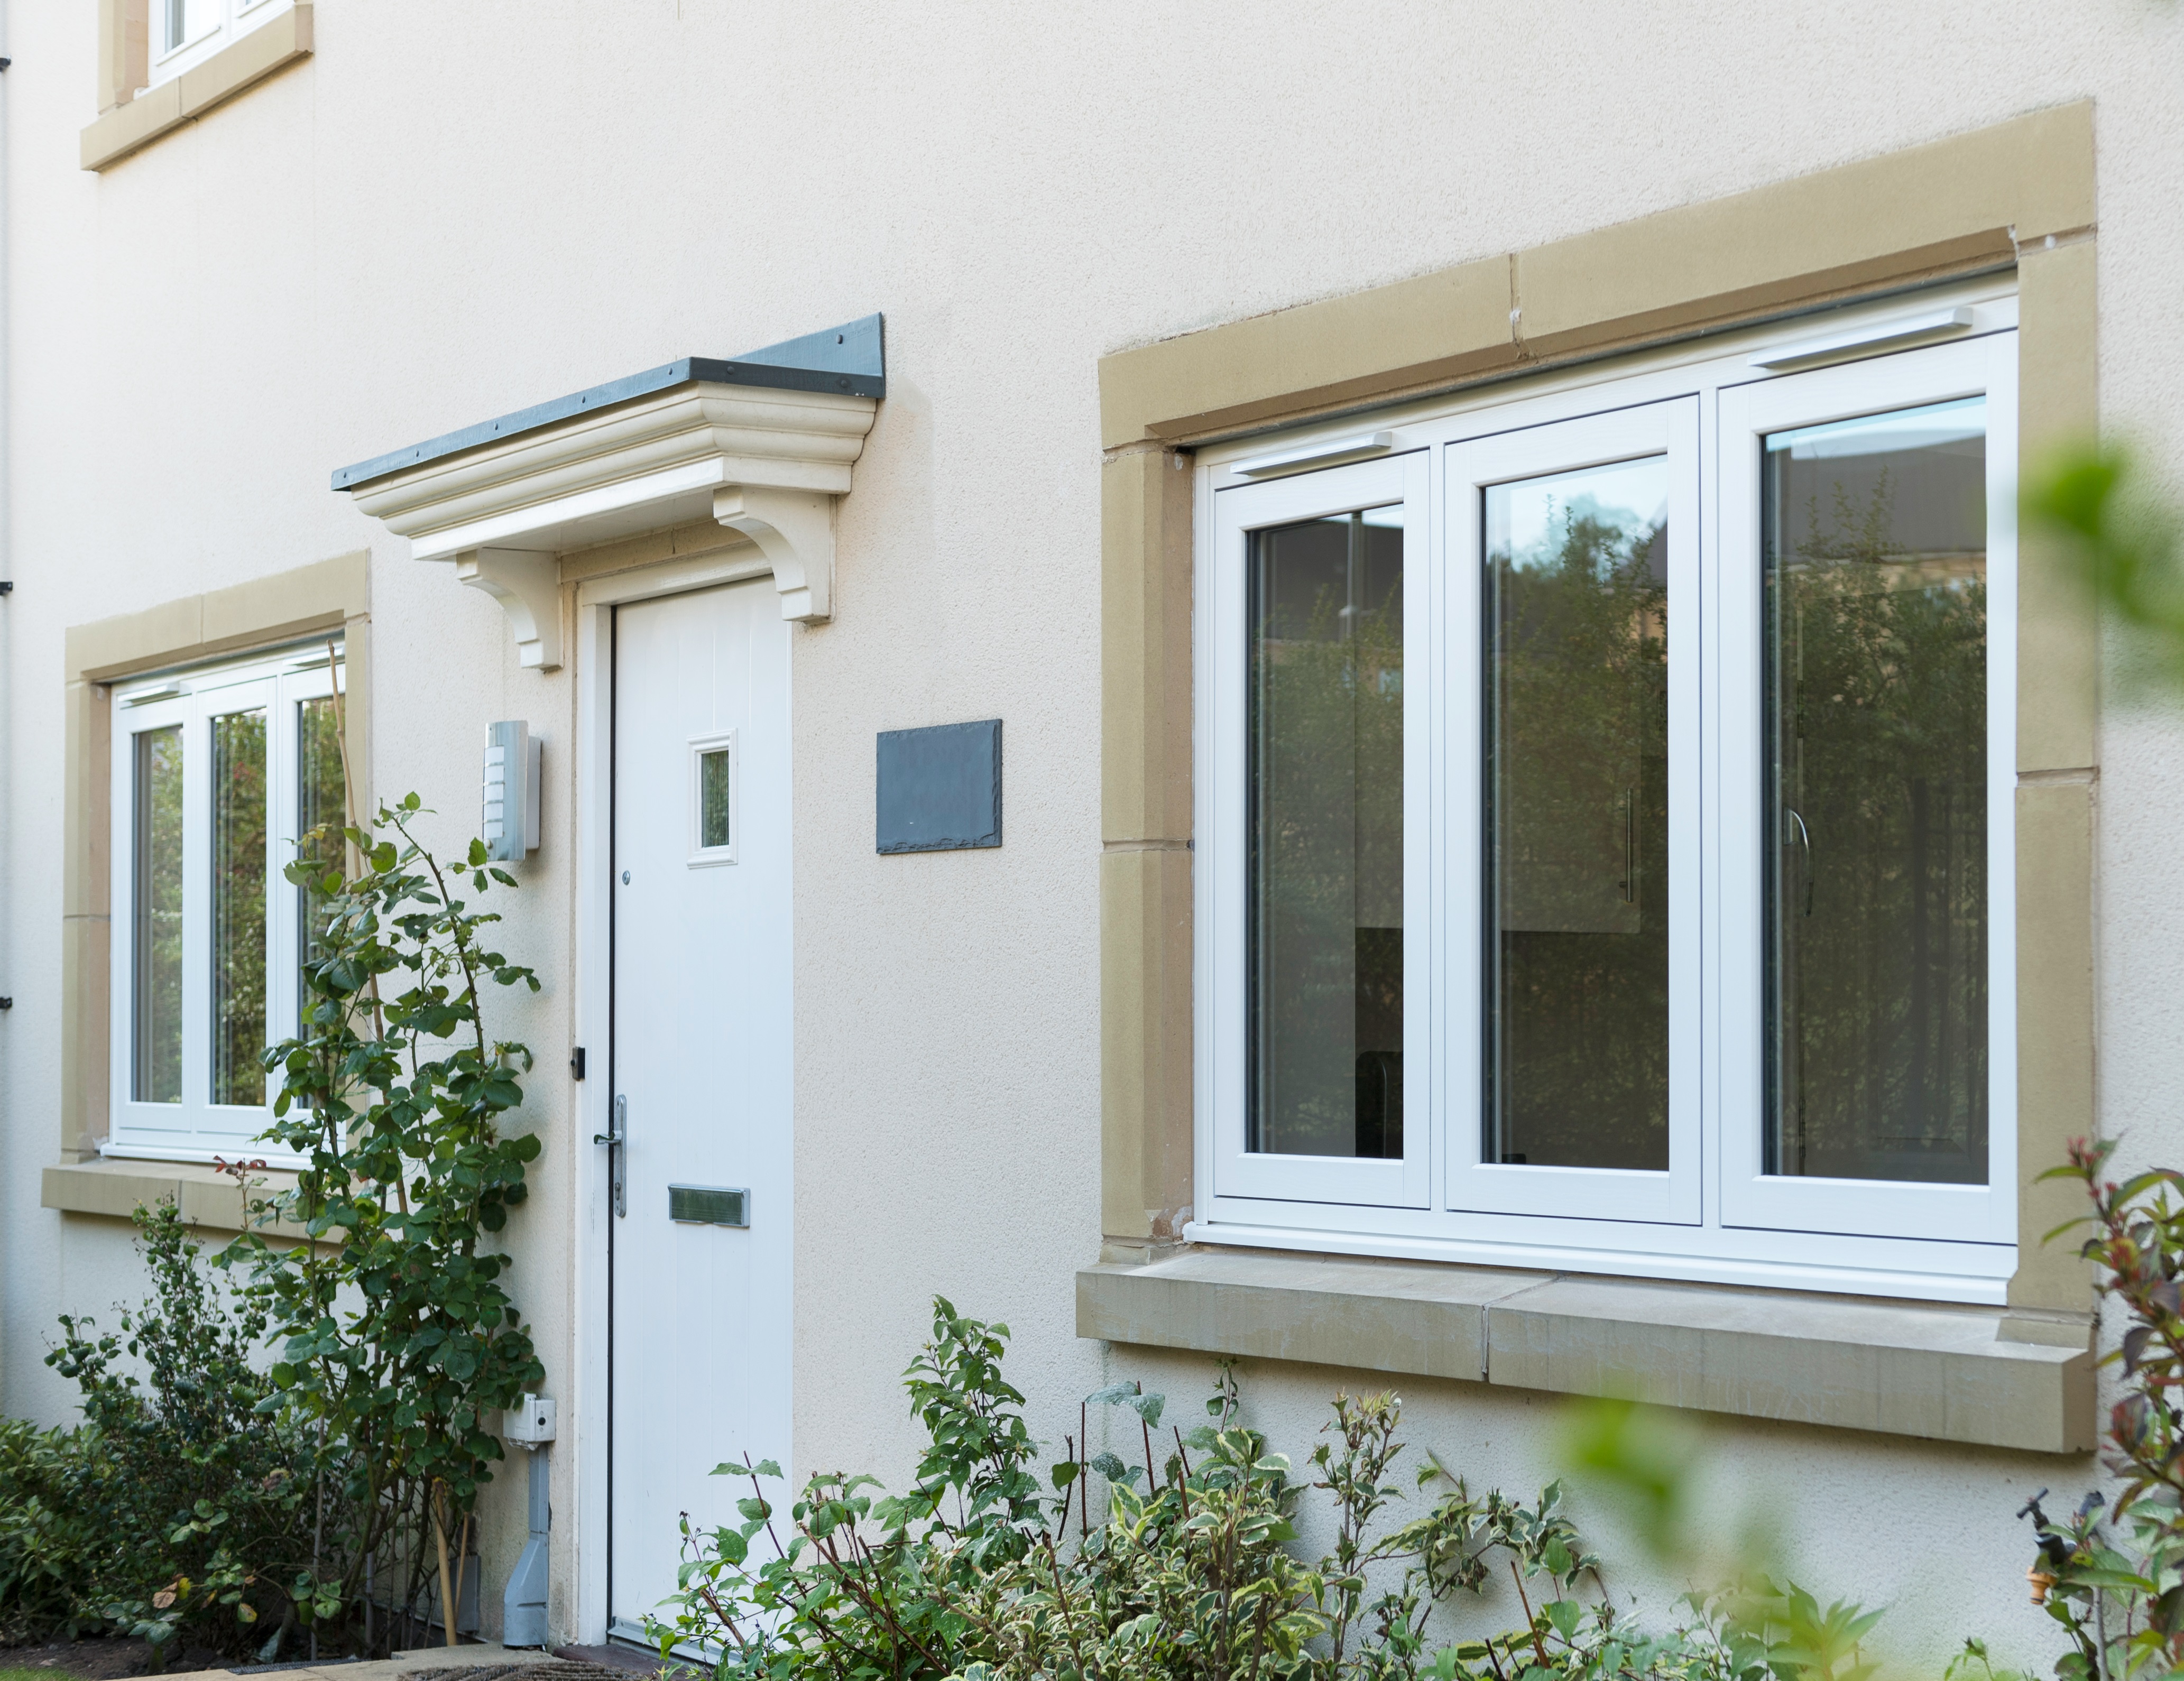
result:
[[[271,648],[312,631],[343,637],[347,749],[356,808],[371,788],[371,555],[336,555],[135,613],[70,624],[63,635],[61,827],[61,1161],[107,1135],[114,969],[114,707],[133,672]],[[48,1207],[59,1207],[48,1203]],[[124,1209],[127,1212],[127,1209]]]

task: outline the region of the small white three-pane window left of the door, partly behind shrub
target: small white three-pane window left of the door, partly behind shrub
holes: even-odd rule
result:
[[[138,677],[111,701],[105,1153],[284,1161],[256,1142],[273,1092],[262,1054],[301,1024],[312,943],[284,869],[299,836],[343,821],[328,648]]]

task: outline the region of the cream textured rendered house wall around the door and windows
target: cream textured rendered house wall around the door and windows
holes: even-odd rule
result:
[[[1690,0],[915,13],[830,0],[323,0],[317,57],[105,175],[76,168],[94,7],[11,7],[17,589],[7,670],[11,1015],[0,1017],[0,1406],[66,1417],[52,1314],[135,1292],[124,1233],[37,1207],[59,1089],[61,629],[373,550],[373,786],[474,821],[491,718],[546,736],[546,847],[507,947],[546,991],[548,1148],[518,1288],[572,1364],[574,685],[498,609],[332,496],[334,465],[684,354],[887,310],[891,395],[841,511],[836,620],[795,633],[797,1454],[900,1480],[895,1373],[935,1290],[1016,1327],[1033,1428],[1203,1362],[1072,1334],[1099,1240],[1094,358],[2094,96],[2103,402],[2184,439],[2184,11]],[[876,729],[1002,716],[1007,845],[876,858]],[[2103,779],[2103,1113],[2184,1159],[2184,731],[2121,716]],[[1247,1369],[1295,1450],[1345,1375]],[[1354,1378],[1354,1384],[1369,1380]],[[1378,1384],[1374,1384],[1378,1386]],[[1551,1408],[1411,1384],[1417,1445],[1551,1474]],[[1891,1648],[2046,1666],[2016,1504],[2090,1463],[1723,1426],[1821,1589]],[[557,1450],[557,1622],[572,1456]],[[520,1480],[489,1533],[513,1559]],[[1638,1578],[1623,1572],[1618,1587]],[[1660,1585],[1649,1585],[1660,1602]]]

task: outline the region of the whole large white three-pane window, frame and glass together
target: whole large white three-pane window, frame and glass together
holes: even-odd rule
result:
[[[1201,452],[1190,1236],[2003,1299],[2016,299],[1944,301]]]

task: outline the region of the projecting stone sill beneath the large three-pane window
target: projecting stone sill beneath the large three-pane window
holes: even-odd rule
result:
[[[1081,1271],[1077,1334],[2042,1454],[2097,1436],[2090,1316],[1190,1249]]]

